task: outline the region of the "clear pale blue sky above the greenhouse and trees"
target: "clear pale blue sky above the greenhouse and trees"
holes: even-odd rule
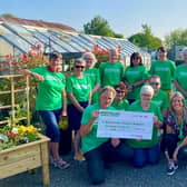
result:
[[[164,39],[175,29],[187,29],[187,0],[0,0],[0,14],[59,22],[83,30],[96,16],[126,38],[151,27]]]

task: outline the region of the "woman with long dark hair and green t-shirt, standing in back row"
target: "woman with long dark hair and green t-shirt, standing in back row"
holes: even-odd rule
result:
[[[126,68],[124,73],[124,82],[128,87],[127,99],[132,104],[139,96],[141,86],[148,79],[148,71],[142,65],[142,59],[139,52],[134,52],[130,56],[130,66]]]

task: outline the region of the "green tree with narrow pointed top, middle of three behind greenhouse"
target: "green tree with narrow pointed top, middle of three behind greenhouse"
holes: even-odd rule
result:
[[[141,24],[142,32],[138,32],[129,37],[129,41],[138,47],[146,47],[148,49],[157,49],[161,46],[161,40],[155,37],[151,28],[148,24]]]

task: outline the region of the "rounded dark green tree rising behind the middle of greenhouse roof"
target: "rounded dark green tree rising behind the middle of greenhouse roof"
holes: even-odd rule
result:
[[[95,17],[90,22],[83,24],[85,33],[105,37],[124,38],[120,33],[115,33],[108,21],[100,16]]]

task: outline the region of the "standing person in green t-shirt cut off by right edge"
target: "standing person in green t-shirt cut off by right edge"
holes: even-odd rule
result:
[[[183,51],[184,63],[179,65],[176,68],[175,76],[174,76],[174,85],[178,91],[180,91],[185,100],[187,100],[187,48]]]

